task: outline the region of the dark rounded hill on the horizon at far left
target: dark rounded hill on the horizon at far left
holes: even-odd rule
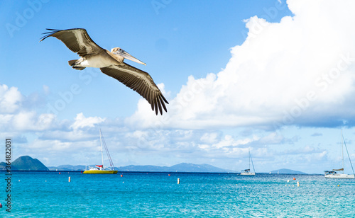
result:
[[[49,171],[49,169],[31,156],[20,156],[11,163],[11,171]]]

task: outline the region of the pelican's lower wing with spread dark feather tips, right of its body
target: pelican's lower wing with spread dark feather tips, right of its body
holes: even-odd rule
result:
[[[163,115],[162,106],[166,112],[165,103],[168,103],[168,101],[166,101],[158,86],[155,85],[147,72],[136,69],[136,67],[132,67],[126,63],[102,67],[100,70],[138,92],[143,98],[146,98],[148,103],[151,104],[152,110],[155,110],[156,115],[158,115],[158,111]]]

